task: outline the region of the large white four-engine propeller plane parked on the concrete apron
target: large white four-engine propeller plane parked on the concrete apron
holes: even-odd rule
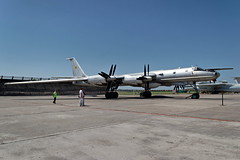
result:
[[[141,93],[141,96],[148,98],[151,97],[150,89],[152,88],[172,85],[193,85],[196,93],[193,94],[192,98],[198,99],[199,93],[196,87],[196,82],[211,80],[216,81],[216,79],[220,76],[220,73],[216,72],[216,70],[232,69],[202,69],[199,67],[189,67],[171,70],[149,71],[149,65],[145,65],[143,73],[115,75],[116,65],[112,65],[108,74],[105,72],[100,72],[98,75],[87,76],[75,58],[67,59],[72,63],[73,77],[71,78],[14,82],[6,83],[6,85],[71,82],[74,85],[80,86],[106,86],[106,98],[118,98],[118,93],[116,90],[119,86],[143,87],[144,92]]]

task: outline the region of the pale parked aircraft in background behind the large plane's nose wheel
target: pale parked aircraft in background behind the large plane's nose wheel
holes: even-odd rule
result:
[[[213,94],[224,93],[224,92],[240,92],[240,84],[237,83],[228,83],[227,81],[220,81],[219,83],[211,82],[201,82],[197,84],[197,88],[201,92],[209,92]]]

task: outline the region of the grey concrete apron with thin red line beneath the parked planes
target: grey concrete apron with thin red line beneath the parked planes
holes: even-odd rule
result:
[[[240,95],[0,97],[0,160],[239,160]]]

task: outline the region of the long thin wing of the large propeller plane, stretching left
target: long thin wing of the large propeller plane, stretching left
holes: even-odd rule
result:
[[[87,81],[88,78],[68,78],[68,79],[54,79],[54,80],[40,80],[40,81],[25,81],[25,82],[10,82],[4,85],[17,85],[17,84],[42,84],[42,83],[64,83],[64,82],[76,82]]]

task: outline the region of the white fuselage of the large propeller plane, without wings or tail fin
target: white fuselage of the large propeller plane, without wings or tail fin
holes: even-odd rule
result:
[[[120,86],[135,86],[143,87],[143,80],[138,80],[143,76],[143,73],[133,73],[111,76],[111,80],[117,79]],[[198,81],[210,81],[215,80],[220,76],[216,71],[206,71],[199,67],[178,68],[171,70],[157,70],[150,71],[146,76],[145,82],[148,81],[150,88],[156,88],[158,86],[171,86],[171,85],[185,85],[192,84]],[[79,85],[106,85],[107,80],[100,75],[88,76],[84,82],[75,84]]]

